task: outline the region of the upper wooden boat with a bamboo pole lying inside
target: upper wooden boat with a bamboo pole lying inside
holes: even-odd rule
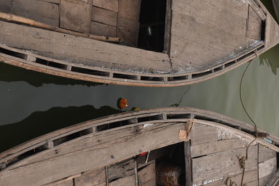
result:
[[[105,84],[202,82],[279,42],[259,0],[4,0],[0,11],[0,61]]]

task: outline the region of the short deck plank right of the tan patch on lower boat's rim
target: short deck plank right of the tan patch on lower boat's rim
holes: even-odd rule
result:
[[[190,134],[191,146],[212,143],[218,140],[218,131],[216,127],[195,127],[196,125],[198,124],[195,123]]]

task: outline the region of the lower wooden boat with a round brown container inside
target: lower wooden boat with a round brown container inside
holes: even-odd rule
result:
[[[240,185],[239,158],[247,147],[243,184],[272,185],[279,178],[278,137],[255,139],[254,132],[252,125],[211,111],[130,111],[1,153],[0,185],[158,185],[179,178],[180,185]],[[165,175],[171,172],[180,176]]]

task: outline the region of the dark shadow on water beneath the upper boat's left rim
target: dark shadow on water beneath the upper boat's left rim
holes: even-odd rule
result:
[[[0,82],[27,82],[32,86],[43,86],[43,84],[57,84],[57,85],[86,85],[86,86],[101,86],[107,84],[100,84],[94,82],[85,82],[77,79],[68,79],[66,77],[59,77],[47,75],[45,73],[36,72],[33,70],[26,70],[6,63],[0,63]]]

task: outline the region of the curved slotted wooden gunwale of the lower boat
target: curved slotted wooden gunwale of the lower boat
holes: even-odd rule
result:
[[[185,115],[186,118],[167,118],[168,115],[171,116],[171,115],[181,115],[181,114]],[[128,121],[133,118],[144,118],[146,116],[160,116],[160,117],[152,121],[132,123],[121,127],[114,127],[108,130],[103,130],[103,131],[96,130],[96,127],[100,125],[115,123],[116,121]],[[19,155],[22,155],[23,153],[26,153],[29,150],[38,148],[39,146],[45,145],[50,141],[54,141],[55,139],[66,137],[75,132],[80,132],[91,128],[95,129],[92,130],[92,132],[89,134],[85,134],[81,137],[71,139],[70,141],[65,141],[61,144],[58,144],[57,146],[53,146],[41,152],[35,153],[15,163],[8,164],[8,166],[2,169],[0,173],[5,171],[6,169],[13,169],[13,167],[17,166],[17,164],[29,160],[29,158],[33,158],[43,153],[47,153],[48,150],[53,150],[55,148],[60,148],[61,146],[66,146],[67,144],[73,143],[76,140],[93,137],[99,134],[105,134],[106,132],[112,132],[115,130],[125,130],[128,127],[136,127],[139,125],[145,125],[150,123],[152,124],[175,123],[175,122],[187,123],[188,121],[190,121],[190,119],[195,119],[197,123],[202,123],[204,125],[211,125],[218,128],[225,127],[225,128],[229,128],[232,131],[236,131],[236,132],[239,131],[240,133],[242,132],[243,134],[246,134],[246,137],[250,139],[255,139],[255,137],[252,134],[249,134],[249,132],[252,133],[255,130],[255,127],[253,127],[252,125],[248,123],[243,123],[241,121],[230,118],[228,116],[216,114],[212,111],[205,111],[202,109],[194,109],[190,107],[169,107],[169,108],[162,108],[162,109],[148,109],[144,111],[129,111],[121,114],[105,116],[103,118],[96,118],[91,121],[86,121],[83,123],[79,123],[77,125],[63,128],[61,130],[56,130],[54,132],[50,132],[49,134],[44,134],[41,137],[37,137],[36,139],[32,139],[31,141],[27,141],[24,144],[11,148],[10,150],[6,150],[3,153],[0,153],[0,164],[5,164],[9,160],[13,160],[14,157],[18,157]],[[260,129],[258,131],[265,132],[264,130],[260,130]],[[264,146],[271,148],[272,150],[278,151],[279,148],[276,145],[279,144],[279,138],[274,136],[273,134],[269,134],[269,137],[266,137],[266,139],[271,140],[272,144],[269,144],[267,141],[264,141],[263,139],[257,139],[257,142],[259,144],[263,144]]]

